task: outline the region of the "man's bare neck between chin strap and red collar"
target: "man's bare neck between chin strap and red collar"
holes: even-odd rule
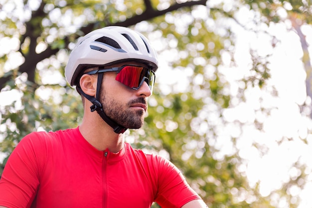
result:
[[[124,146],[124,135],[116,134],[97,112],[87,112],[87,114],[88,116],[84,115],[79,126],[85,140],[100,151],[109,149],[113,153],[119,152]]]

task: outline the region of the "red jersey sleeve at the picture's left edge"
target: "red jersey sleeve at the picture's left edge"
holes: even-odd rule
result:
[[[8,158],[0,179],[0,206],[31,206],[39,185],[39,170],[45,163],[45,145],[38,135],[24,137]]]

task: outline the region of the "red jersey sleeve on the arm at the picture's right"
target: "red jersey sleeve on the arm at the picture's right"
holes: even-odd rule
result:
[[[158,190],[155,201],[161,208],[181,208],[192,200],[201,199],[170,161],[159,156],[157,161]]]

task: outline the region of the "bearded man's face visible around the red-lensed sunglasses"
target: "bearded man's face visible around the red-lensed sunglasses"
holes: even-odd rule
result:
[[[127,64],[142,65],[136,62]],[[125,63],[120,65],[125,65]],[[147,98],[151,95],[151,90],[147,83],[144,83],[138,90],[131,89],[116,81],[116,75],[116,72],[104,73],[100,100],[104,112],[126,128],[139,129],[144,124],[148,107]]]

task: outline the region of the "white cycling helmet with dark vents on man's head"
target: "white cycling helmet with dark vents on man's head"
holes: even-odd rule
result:
[[[81,71],[92,66],[136,60],[158,68],[155,49],[141,33],[121,26],[96,29],[78,39],[65,67],[67,82],[74,86]]]

